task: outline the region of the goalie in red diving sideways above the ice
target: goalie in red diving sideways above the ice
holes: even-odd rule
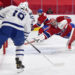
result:
[[[41,15],[43,12],[40,13]],[[45,25],[44,25],[45,26]],[[44,27],[43,26],[43,27]],[[71,23],[71,18],[68,16],[59,16],[56,19],[50,19],[47,28],[39,30],[39,36],[34,38],[34,41],[42,41],[50,38],[52,35],[59,35],[68,40],[68,49],[71,49],[71,44],[75,40],[75,24]]]

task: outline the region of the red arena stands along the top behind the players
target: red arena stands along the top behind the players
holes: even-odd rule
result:
[[[28,1],[34,14],[40,8],[45,12],[51,8],[53,14],[75,14],[75,0],[0,0],[0,6],[19,5],[24,1]]]

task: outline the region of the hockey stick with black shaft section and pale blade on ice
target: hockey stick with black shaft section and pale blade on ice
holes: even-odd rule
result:
[[[28,40],[26,40],[28,43],[29,43],[29,41]],[[29,43],[38,53],[40,53],[40,54],[42,54],[42,52],[36,47],[36,46],[34,46],[32,43]],[[51,61],[46,55],[44,55],[44,54],[42,54],[42,56],[50,63],[50,64],[52,64],[52,65],[54,65],[54,66],[63,66],[64,65],[64,63],[54,63],[53,61]]]

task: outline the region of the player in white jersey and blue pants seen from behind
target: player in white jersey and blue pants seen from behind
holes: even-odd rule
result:
[[[28,8],[28,7],[27,7]],[[16,67],[23,69],[22,59],[24,56],[24,41],[31,31],[31,19],[25,10],[26,6],[9,6],[0,11],[2,27],[0,28],[0,48],[4,42],[11,38],[16,46]]]

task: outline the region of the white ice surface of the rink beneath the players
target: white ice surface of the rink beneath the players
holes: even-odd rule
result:
[[[75,75],[75,50],[68,50],[66,43],[67,39],[59,36],[38,44],[33,43],[41,54],[31,45],[26,45],[23,59],[25,71],[19,75]],[[6,55],[0,54],[0,75],[18,75],[14,59],[15,46],[10,43]]]

